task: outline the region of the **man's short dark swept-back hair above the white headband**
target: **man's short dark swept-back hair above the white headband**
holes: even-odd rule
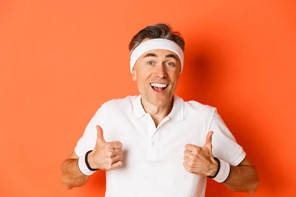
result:
[[[183,52],[185,51],[185,41],[182,35],[179,32],[173,32],[170,25],[166,23],[158,23],[155,25],[149,25],[143,30],[141,30],[139,33],[134,35],[128,46],[130,55],[145,38],[163,38],[172,40],[180,46]]]

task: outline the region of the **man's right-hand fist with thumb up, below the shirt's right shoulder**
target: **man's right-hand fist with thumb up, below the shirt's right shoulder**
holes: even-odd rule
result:
[[[197,175],[214,176],[218,169],[218,163],[212,155],[212,135],[213,131],[206,136],[203,147],[193,144],[186,144],[184,151],[185,169]]]

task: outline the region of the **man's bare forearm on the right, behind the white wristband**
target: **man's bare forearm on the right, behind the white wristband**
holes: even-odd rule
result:
[[[224,185],[234,192],[254,194],[259,186],[257,170],[253,166],[230,166],[230,175]]]

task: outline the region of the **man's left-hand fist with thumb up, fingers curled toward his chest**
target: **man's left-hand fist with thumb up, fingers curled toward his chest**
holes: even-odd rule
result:
[[[122,166],[122,143],[106,142],[102,128],[97,125],[97,140],[95,148],[88,154],[87,161],[91,168],[113,170]]]

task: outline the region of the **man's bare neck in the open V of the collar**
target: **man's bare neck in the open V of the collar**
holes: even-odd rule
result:
[[[151,118],[153,119],[155,127],[157,127],[164,117],[169,115],[173,109],[173,96],[166,104],[162,106],[153,105],[143,97],[141,98],[141,102],[146,113],[150,114]]]

